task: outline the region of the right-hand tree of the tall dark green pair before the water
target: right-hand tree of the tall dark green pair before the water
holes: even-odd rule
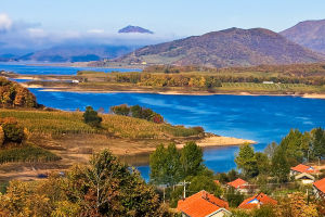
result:
[[[200,173],[205,165],[203,164],[203,151],[195,142],[187,142],[181,150],[181,165],[183,178],[187,176],[196,176]]]

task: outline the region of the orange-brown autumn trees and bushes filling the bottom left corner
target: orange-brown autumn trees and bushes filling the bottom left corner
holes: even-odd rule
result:
[[[108,151],[89,166],[35,182],[12,181],[0,194],[2,216],[171,216],[152,186]]]

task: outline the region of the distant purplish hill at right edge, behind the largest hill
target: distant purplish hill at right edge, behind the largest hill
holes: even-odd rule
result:
[[[296,43],[325,53],[325,20],[300,22],[280,34]]]

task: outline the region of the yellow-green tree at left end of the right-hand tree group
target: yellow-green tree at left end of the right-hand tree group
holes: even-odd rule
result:
[[[239,148],[239,153],[235,158],[237,167],[243,170],[247,177],[256,177],[258,175],[257,161],[255,158],[253,149],[249,144]]]

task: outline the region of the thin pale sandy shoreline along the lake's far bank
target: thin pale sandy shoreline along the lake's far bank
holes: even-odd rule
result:
[[[154,94],[166,94],[166,95],[251,95],[251,97],[260,97],[260,95],[269,95],[269,97],[299,97],[306,99],[325,99],[325,93],[299,93],[299,94],[284,94],[284,93],[250,93],[250,92],[186,92],[186,91],[161,91],[161,90],[84,90],[78,88],[66,88],[66,87],[43,87],[41,85],[26,85],[22,84],[26,88],[35,88],[42,89],[40,91],[44,92],[77,92],[77,93],[154,93]]]

